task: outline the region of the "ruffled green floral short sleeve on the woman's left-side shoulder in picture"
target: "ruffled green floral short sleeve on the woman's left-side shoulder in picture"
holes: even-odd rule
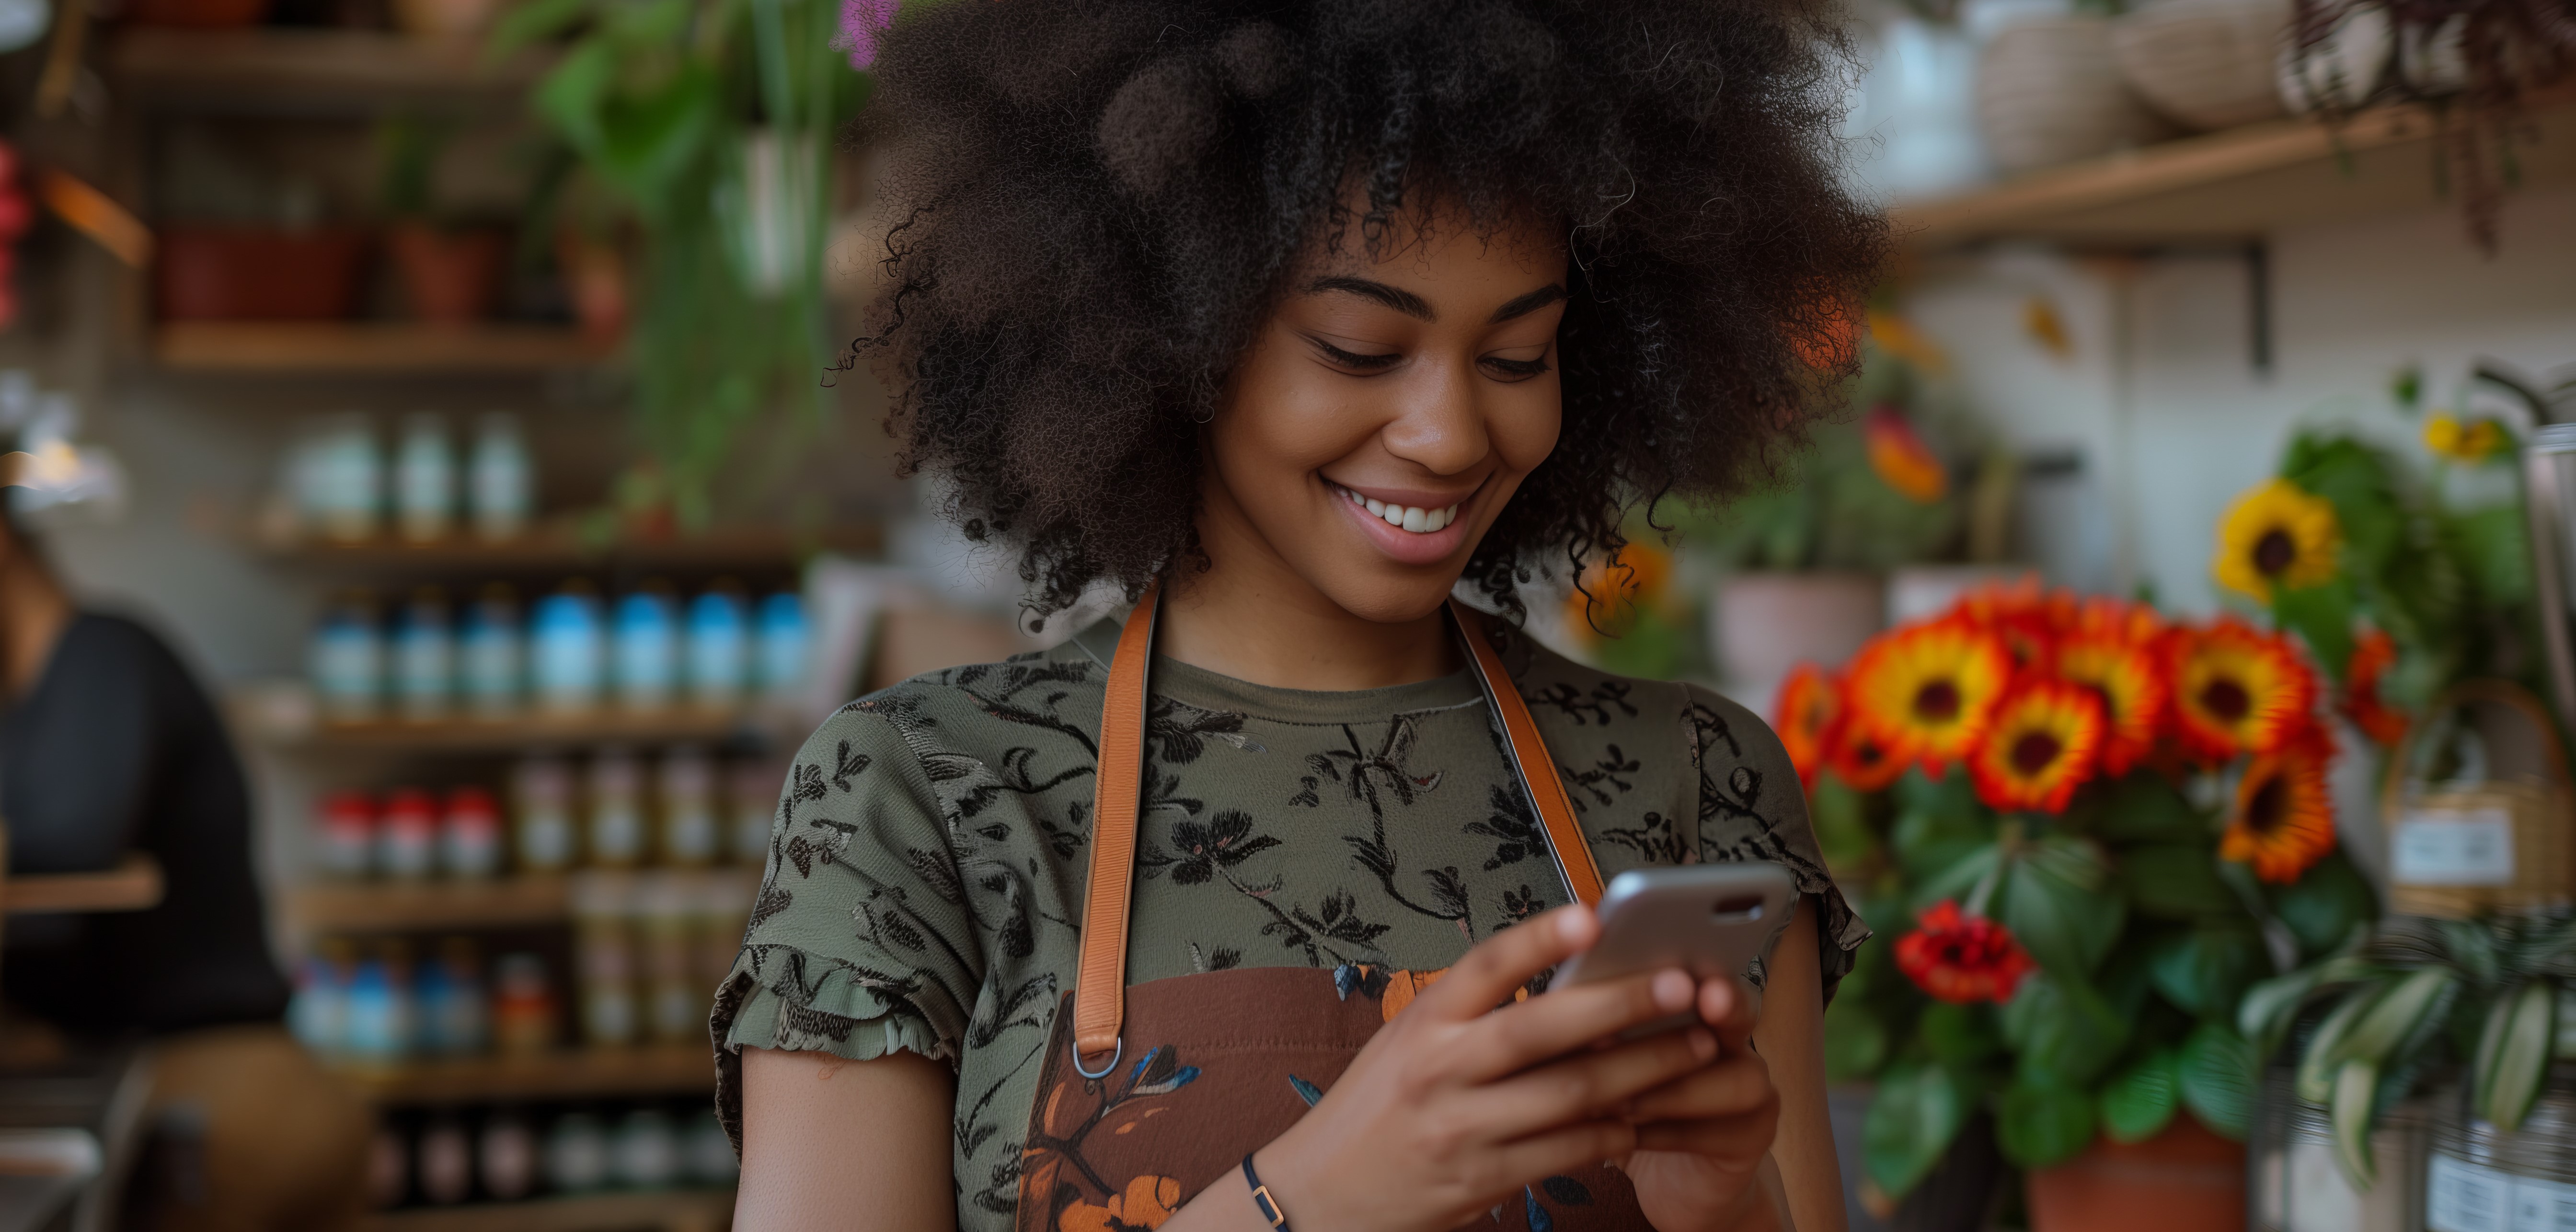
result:
[[[984,956],[940,799],[894,724],[842,709],[796,753],[742,951],[716,990],[716,1111],[742,1049],[958,1062]]]

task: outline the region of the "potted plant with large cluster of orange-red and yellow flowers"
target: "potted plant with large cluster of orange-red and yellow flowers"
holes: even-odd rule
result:
[[[2267,938],[2329,954],[2375,910],[2336,851],[2300,650],[1986,590],[1795,673],[1777,727],[1826,858],[1893,936],[1826,1013],[1834,1077],[1878,1083],[1870,1201],[1984,1111],[2035,1232],[2239,1227],[2236,1003],[2277,974]]]

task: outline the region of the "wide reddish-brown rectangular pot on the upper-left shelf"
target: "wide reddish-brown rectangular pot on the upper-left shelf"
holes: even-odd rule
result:
[[[363,232],[165,227],[152,276],[162,320],[337,320],[363,265]]]

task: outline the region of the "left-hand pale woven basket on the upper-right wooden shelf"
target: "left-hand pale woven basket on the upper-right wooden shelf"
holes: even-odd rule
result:
[[[1994,165],[2053,168],[2146,144],[2172,129],[2120,80],[2110,18],[2038,18],[1986,44],[1976,72],[1976,126]]]

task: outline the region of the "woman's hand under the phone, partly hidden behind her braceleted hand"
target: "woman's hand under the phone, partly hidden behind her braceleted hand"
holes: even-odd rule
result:
[[[1752,1049],[1762,995],[1744,979],[1708,979],[1700,1018],[1718,1036],[1718,1057],[1628,1103],[1638,1150],[1623,1170],[1656,1232],[1788,1229],[1765,1168],[1780,1093]]]

